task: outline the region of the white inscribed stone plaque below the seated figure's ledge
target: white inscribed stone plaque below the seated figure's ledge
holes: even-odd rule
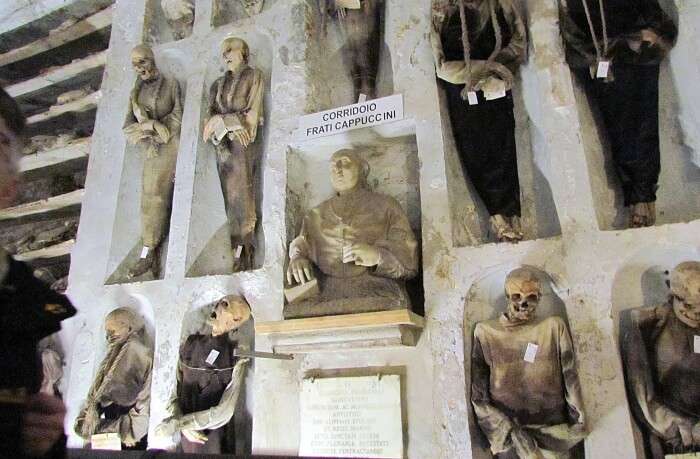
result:
[[[403,457],[398,375],[307,379],[300,398],[300,456]]]

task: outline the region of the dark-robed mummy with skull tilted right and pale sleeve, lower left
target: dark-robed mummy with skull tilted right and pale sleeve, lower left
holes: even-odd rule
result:
[[[235,453],[231,419],[249,361],[234,355],[239,348],[236,331],[250,318],[246,300],[229,295],[214,307],[207,321],[211,331],[187,337],[180,347],[171,416],[158,426],[156,435],[179,432],[186,453]]]

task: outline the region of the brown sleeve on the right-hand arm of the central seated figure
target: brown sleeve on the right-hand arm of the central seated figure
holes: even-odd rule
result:
[[[385,238],[375,242],[380,256],[373,274],[391,279],[410,279],[418,273],[418,242],[408,216],[398,202],[390,199],[385,218]]]

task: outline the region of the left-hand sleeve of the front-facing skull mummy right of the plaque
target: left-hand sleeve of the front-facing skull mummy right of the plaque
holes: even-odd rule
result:
[[[491,369],[484,355],[482,340],[481,327],[477,324],[472,345],[471,402],[481,431],[491,445],[491,452],[498,454],[512,447],[510,433],[513,421],[491,403]]]

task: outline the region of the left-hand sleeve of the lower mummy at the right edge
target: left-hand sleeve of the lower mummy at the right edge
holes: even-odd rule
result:
[[[680,429],[691,430],[693,421],[670,408],[658,399],[652,375],[652,364],[647,354],[647,342],[655,329],[663,326],[663,311],[656,308],[640,308],[623,316],[625,330],[620,340],[622,361],[625,368],[627,389],[634,405],[641,412],[644,423],[657,436],[666,441],[678,440]],[[645,339],[646,338],[646,339]]]

